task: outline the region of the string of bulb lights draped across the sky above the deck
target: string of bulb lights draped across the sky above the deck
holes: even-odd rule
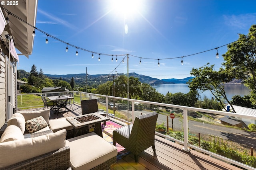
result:
[[[93,54],[98,54],[99,56],[100,56],[100,55],[111,56],[112,59],[113,59],[113,56],[114,56],[114,55],[112,55],[112,54],[98,53],[98,52],[90,51],[90,50],[88,50],[88,49],[84,49],[84,48],[78,47],[78,46],[76,46],[76,45],[72,45],[72,44],[70,44],[70,43],[67,43],[67,42],[65,42],[65,41],[63,41],[63,40],[61,40],[61,39],[59,39],[59,38],[57,38],[57,37],[54,37],[53,35],[50,35],[50,34],[44,32],[44,31],[42,31],[41,29],[38,29],[37,27],[34,27],[34,26],[31,25],[30,23],[28,23],[28,22],[22,20],[21,18],[19,18],[19,17],[16,16],[15,14],[11,13],[10,11],[8,11],[6,8],[4,8],[4,7],[1,7],[1,8],[2,8],[2,10],[6,11],[6,12],[8,13],[8,16],[9,16],[9,15],[12,15],[12,16],[14,16],[15,18],[17,18],[18,20],[20,20],[20,21],[22,21],[22,22],[28,24],[29,26],[33,27],[33,28],[34,28],[34,31],[35,31],[35,29],[36,29],[36,30],[40,31],[41,33],[47,35],[47,38],[46,38],[47,40],[48,40],[48,37],[51,37],[51,38],[53,38],[53,39],[55,39],[55,40],[57,40],[57,41],[60,41],[60,42],[62,42],[62,43],[65,43],[65,44],[67,45],[66,51],[67,51],[67,49],[68,49],[68,46],[70,46],[70,47],[76,48],[76,51],[79,49],[79,50],[82,50],[82,51],[86,51],[86,52],[92,53],[92,58],[94,57]],[[8,18],[8,17],[7,17],[7,18]],[[34,31],[33,31],[33,33],[34,33]],[[238,40],[236,40],[236,41],[238,41]],[[236,41],[233,41],[232,43],[234,43],[234,42],[236,42]],[[48,42],[48,41],[47,41],[47,42]],[[220,47],[224,47],[224,46],[229,45],[229,44],[231,44],[231,43],[222,45],[222,46],[220,46]],[[184,58],[184,57],[190,57],[190,56],[193,56],[193,55],[197,55],[197,54],[200,54],[200,53],[205,53],[205,52],[212,51],[212,50],[217,50],[217,54],[218,54],[218,48],[220,48],[220,47],[216,47],[216,48],[209,49],[209,50],[206,50],[206,51],[202,51],[202,52],[199,52],[199,53],[194,53],[194,54],[190,54],[190,55],[185,55],[185,56],[182,56],[182,57],[170,57],[170,58],[164,58],[164,59],[152,59],[152,58],[146,58],[146,57],[138,57],[138,56],[131,55],[131,54],[129,54],[129,55],[132,56],[132,57],[137,57],[137,58],[139,58],[139,59],[140,59],[140,63],[141,63],[141,59],[158,60],[158,65],[160,65],[160,63],[159,63],[160,60],[169,60],[169,59],[178,59],[178,58],[181,58],[181,59],[182,59],[182,63],[183,63],[183,58]],[[77,52],[78,52],[78,51],[77,51]],[[76,54],[78,54],[78,53],[76,53]],[[217,55],[217,54],[216,54],[216,58],[218,58],[218,55]],[[125,56],[125,57],[126,57],[126,55],[127,55],[127,54],[115,55],[115,56],[116,56],[116,62],[117,62],[117,57],[118,57],[118,56]],[[124,57],[124,58],[125,58],[125,57]],[[123,59],[123,60],[124,60],[124,59]],[[122,60],[122,61],[123,61],[123,60]],[[122,63],[122,61],[118,64],[118,66]],[[117,66],[117,67],[118,67],[118,66]],[[116,68],[117,68],[117,67],[116,67]],[[114,70],[116,70],[116,68],[114,68]],[[113,71],[114,71],[114,70],[113,70]],[[113,72],[113,71],[112,71],[112,72]],[[110,73],[111,73],[111,72],[110,72]]]

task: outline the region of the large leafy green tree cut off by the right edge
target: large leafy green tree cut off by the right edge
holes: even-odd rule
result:
[[[251,89],[251,101],[256,105],[256,25],[252,25],[248,35],[240,34],[238,41],[228,45],[222,55],[223,65],[232,72],[232,77],[244,80]]]

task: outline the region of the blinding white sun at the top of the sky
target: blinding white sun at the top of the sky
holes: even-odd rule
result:
[[[132,16],[140,9],[140,0],[111,0],[112,10],[123,17]]]

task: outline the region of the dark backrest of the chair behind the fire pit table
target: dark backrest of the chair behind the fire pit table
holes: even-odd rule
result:
[[[82,115],[99,111],[96,99],[81,100]]]

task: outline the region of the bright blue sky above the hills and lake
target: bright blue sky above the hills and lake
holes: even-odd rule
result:
[[[227,51],[220,46],[248,34],[255,6],[254,0],[38,0],[36,27],[78,47],[78,56],[75,47],[66,52],[67,44],[52,37],[46,44],[46,34],[36,30],[33,53],[19,57],[18,69],[30,72],[35,64],[45,74],[78,74],[87,67],[91,75],[136,72],[159,79],[185,78],[207,63],[218,70]],[[98,61],[98,54],[92,58],[79,48],[110,56]],[[181,64],[180,57],[194,53],[200,54]],[[116,62],[122,54],[130,55],[128,64],[125,56]]]

